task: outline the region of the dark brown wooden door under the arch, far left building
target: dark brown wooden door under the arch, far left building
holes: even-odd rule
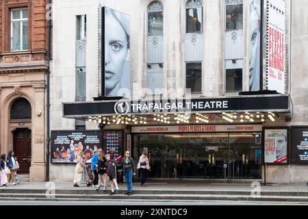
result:
[[[16,129],[13,150],[19,164],[18,173],[29,174],[31,166],[31,129]]]

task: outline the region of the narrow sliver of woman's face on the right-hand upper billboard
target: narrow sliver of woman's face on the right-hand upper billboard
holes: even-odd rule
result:
[[[251,10],[251,29],[250,29],[250,60],[249,60],[249,86],[252,87],[256,71],[259,65],[259,53],[260,49],[260,27],[259,27],[259,14],[257,10]]]

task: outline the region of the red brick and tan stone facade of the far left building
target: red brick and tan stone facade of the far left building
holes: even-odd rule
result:
[[[14,148],[13,131],[31,129],[30,181],[45,181],[45,62],[47,23],[44,0],[0,1],[0,151]],[[28,49],[11,51],[11,10],[28,10]],[[31,105],[30,120],[12,120],[10,107],[24,97]]]

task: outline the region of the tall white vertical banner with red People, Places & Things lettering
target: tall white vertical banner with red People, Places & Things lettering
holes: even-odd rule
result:
[[[285,0],[268,0],[266,81],[285,94]]]

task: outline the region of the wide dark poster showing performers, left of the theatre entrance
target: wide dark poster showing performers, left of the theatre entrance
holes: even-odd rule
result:
[[[51,162],[76,163],[80,151],[90,161],[101,143],[101,131],[51,131]]]

